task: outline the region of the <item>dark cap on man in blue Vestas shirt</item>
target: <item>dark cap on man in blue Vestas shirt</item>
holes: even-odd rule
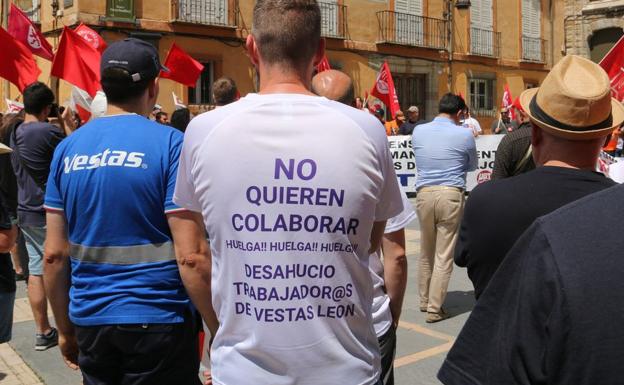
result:
[[[153,45],[134,38],[108,46],[102,54],[100,71],[103,73],[108,68],[125,69],[135,82],[155,79],[160,71],[169,72],[167,67],[160,64],[158,51]]]

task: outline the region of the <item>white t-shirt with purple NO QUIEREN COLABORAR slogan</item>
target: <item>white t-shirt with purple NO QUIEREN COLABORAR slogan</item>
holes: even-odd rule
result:
[[[210,234],[215,384],[376,382],[370,234],[400,194],[385,130],[355,108],[252,94],[191,122],[174,201]]]

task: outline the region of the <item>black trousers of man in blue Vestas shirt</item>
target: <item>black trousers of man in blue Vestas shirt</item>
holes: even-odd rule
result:
[[[77,326],[84,385],[201,385],[197,323]]]

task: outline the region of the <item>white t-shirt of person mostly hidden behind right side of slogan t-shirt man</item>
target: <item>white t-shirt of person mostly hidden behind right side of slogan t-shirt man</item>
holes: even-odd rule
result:
[[[414,212],[411,202],[405,194],[401,195],[403,197],[403,212],[388,220],[386,234],[404,229],[416,219],[416,212]],[[381,338],[392,326],[392,313],[390,312],[390,297],[384,288],[384,267],[380,252],[371,255],[369,268],[373,278],[373,324],[377,338]]]

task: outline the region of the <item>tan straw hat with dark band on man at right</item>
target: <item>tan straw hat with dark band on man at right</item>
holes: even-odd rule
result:
[[[611,97],[606,72],[575,55],[557,63],[541,87],[524,91],[520,104],[534,124],[565,139],[600,138],[624,122],[624,107]]]

